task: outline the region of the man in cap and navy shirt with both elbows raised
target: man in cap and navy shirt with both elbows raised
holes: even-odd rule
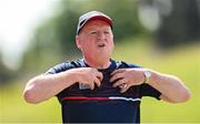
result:
[[[31,79],[24,100],[57,96],[63,123],[139,123],[142,96],[186,102],[189,90],[176,76],[114,61],[112,20],[99,11],[79,18],[76,43],[83,59],[68,61]]]

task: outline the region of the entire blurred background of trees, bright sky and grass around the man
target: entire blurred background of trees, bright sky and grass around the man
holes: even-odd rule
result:
[[[191,100],[143,97],[141,122],[200,123],[200,0],[0,0],[0,123],[61,123],[57,99],[32,105],[29,79],[81,58],[74,35],[80,14],[113,19],[113,59],[179,76]]]

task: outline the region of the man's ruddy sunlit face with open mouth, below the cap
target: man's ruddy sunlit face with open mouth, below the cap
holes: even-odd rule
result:
[[[114,44],[110,25],[102,20],[90,20],[76,37],[78,48],[87,60],[110,60]]]

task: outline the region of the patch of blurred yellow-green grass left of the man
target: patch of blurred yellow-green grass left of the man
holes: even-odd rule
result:
[[[50,99],[40,104],[28,104],[22,97],[24,85],[14,84],[1,92],[0,123],[1,122],[34,122],[34,123],[60,123],[61,110],[57,99]]]

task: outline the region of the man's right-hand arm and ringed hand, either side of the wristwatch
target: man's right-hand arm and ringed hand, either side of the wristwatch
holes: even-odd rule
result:
[[[140,85],[144,81],[144,71],[147,69],[119,69],[112,72],[112,78],[110,82],[114,82],[113,86],[120,86],[121,84],[126,84],[126,86],[121,87],[121,93],[126,92],[132,85]],[[190,97],[190,91],[182,83],[180,79],[177,76],[162,74],[156,71],[150,70],[152,73],[148,84],[161,92],[160,99],[172,102],[186,102]]]

